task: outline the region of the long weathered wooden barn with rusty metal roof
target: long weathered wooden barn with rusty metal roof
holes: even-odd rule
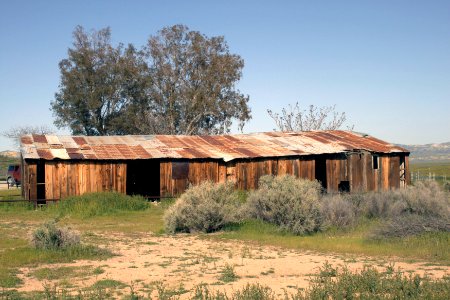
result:
[[[328,192],[401,188],[406,149],[351,131],[218,136],[55,136],[21,139],[26,199],[118,191],[176,196],[203,180],[254,189],[265,174],[317,179]]]

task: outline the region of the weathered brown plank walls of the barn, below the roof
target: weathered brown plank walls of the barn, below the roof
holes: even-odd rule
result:
[[[290,174],[314,180],[316,159],[326,159],[326,189],[339,191],[343,183],[350,191],[378,191],[402,187],[411,183],[409,159],[405,154],[377,155],[378,168],[374,168],[373,154],[369,152],[319,155],[287,158],[261,158],[223,162],[221,160],[183,160],[188,164],[185,177],[173,176],[173,164],[179,160],[159,162],[160,196],[177,196],[190,184],[202,181],[235,182],[242,190],[258,187],[263,175]],[[45,180],[37,182],[38,172],[44,168]],[[38,170],[39,169],[39,170]],[[23,161],[23,194],[26,199],[38,197],[38,186],[45,186],[46,199],[61,199],[87,192],[118,191],[126,193],[126,161]],[[42,173],[39,173],[42,174]],[[402,175],[403,174],[403,175]],[[42,175],[39,175],[42,176]],[[174,178],[176,177],[176,178]],[[322,178],[322,177],[321,177]],[[39,191],[42,191],[39,189]],[[41,193],[41,192],[39,192]]]

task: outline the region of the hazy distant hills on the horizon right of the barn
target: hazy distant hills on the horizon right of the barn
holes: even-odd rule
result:
[[[426,145],[399,145],[411,151],[412,161],[445,161],[450,160],[450,142]]]

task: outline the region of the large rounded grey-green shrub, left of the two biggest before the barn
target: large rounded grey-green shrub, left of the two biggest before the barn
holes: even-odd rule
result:
[[[240,220],[239,194],[231,182],[192,186],[164,214],[168,233],[213,232]]]

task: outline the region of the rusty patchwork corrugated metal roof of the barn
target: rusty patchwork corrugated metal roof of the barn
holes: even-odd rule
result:
[[[150,159],[283,157],[367,150],[409,152],[374,137],[351,131],[267,132],[217,136],[54,136],[26,135],[26,159]]]

